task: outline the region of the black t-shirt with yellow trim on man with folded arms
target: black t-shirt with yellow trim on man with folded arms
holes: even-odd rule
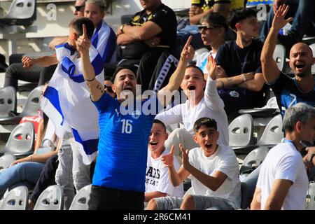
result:
[[[146,10],[142,10],[136,13],[130,21],[131,26],[142,26],[145,22],[154,22],[156,25],[161,27],[162,31],[157,36],[161,38],[160,44],[155,48],[170,49],[175,45],[176,42],[176,27],[177,20],[176,15],[172,8],[161,4],[151,14],[147,14]],[[126,45],[123,50],[123,58],[127,59],[141,59],[145,52],[155,50],[150,48],[144,41],[136,41]]]

